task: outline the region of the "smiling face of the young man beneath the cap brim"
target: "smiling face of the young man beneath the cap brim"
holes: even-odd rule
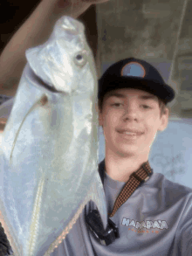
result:
[[[157,131],[168,125],[168,109],[160,116],[158,98],[153,94],[117,89],[106,93],[99,125],[103,126],[107,152],[122,157],[148,156]]]

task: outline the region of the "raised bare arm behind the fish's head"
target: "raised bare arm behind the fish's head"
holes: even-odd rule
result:
[[[108,0],[42,0],[5,46],[0,56],[0,92],[14,96],[26,64],[25,51],[43,44],[59,17],[79,17],[93,3]]]

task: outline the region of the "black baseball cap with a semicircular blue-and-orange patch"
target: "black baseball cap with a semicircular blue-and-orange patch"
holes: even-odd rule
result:
[[[110,66],[99,80],[98,98],[102,100],[107,92],[121,88],[147,91],[165,104],[175,98],[175,91],[164,82],[161,74],[141,59],[123,59]]]

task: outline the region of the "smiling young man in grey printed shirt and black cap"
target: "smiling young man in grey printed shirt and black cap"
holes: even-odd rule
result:
[[[108,246],[96,237],[86,223],[91,202],[51,256],[192,255],[192,190],[153,172],[148,163],[174,97],[160,73],[141,59],[124,59],[106,70],[99,80],[99,125],[106,139],[99,175],[120,237]]]

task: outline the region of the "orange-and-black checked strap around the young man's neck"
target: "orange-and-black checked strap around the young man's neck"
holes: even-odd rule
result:
[[[104,174],[105,174],[105,159],[99,163],[99,175],[101,178],[102,183],[104,183]],[[141,168],[137,171],[135,171],[128,179],[127,183],[123,187],[123,189],[120,191],[120,195],[117,197],[114,205],[113,205],[113,211],[111,214],[109,214],[109,217],[113,217],[115,212],[120,208],[122,204],[124,204],[129,197],[134,193],[134,190],[136,190],[139,186],[141,186],[142,183],[146,182],[149,176],[152,176],[153,169],[151,169],[150,164],[148,161],[146,163],[143,163]]]

